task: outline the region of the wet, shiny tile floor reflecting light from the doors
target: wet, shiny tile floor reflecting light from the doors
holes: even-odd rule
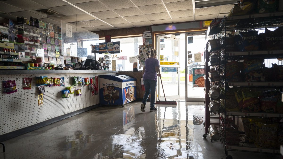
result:
[[[140,102],[99,107],[4,141],[0,158],[187,158],[221,159],[221,143],[204,139],[203,103],[156,105],[140,111]],[[228,151],[233,158],[281,158],[279,155]]]

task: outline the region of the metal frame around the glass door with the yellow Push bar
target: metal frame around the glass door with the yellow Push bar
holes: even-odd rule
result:
[[[178,62],[180,61],[180,55],[179,55],[179,51],[180,51],[180,38],[171,38],[171,37],[168,37],[168,36],[164,36],[164,35],[156,35],[156,43],[157,43],[157,46],[156,46],[156,48],[157,48],[157,52],[158,52],[158,61],[160,62],[160,37],[162,37],[162,38],[164,38],[164,39],[170,39],[170,40],[178,40]],[[174,66],[174,65],[173,65]],[[173,67],[173,66],[168,66],[168,67]],[[180,99],[180,66],[179,65],[177,65],[177,74],[178,74],[178,99]],[[160,70],[161,71],[161,70]],[[161,86],[161,82],[160,82],[160,80],[159,80],[159,78],[158,78],[158,81],[157,81],[157,94],[159,94],[158,95],[158,97],[156,98],[157,100],[159,100],[160,99],[160,93],[163,93],[163,91],[161,92],[161,89],[162,88],[162,86]],[[169,96],[170,97],[170,96]],[[173,100],[175,100],[175,99],[173,99]]]

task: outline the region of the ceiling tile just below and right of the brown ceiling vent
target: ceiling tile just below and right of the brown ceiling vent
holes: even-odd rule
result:
[[[76,17],[77,16],[77,17]],[[70,16],[52,17],[51,19],[61,22],[79,22],[84,20],[93,20],[94,18],[88,14],[76,14]]]

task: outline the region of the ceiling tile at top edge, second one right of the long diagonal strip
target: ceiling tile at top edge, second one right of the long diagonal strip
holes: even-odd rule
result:
[[[135,7],[134,4],[129,0],[100,0],[104,5],[109,7],[110,9],[122,9],[122,8],[130,8]]]

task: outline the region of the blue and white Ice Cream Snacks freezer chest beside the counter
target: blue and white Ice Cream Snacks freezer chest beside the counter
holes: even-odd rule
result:
[[[100,105],[124,105],[136,100],[136,78],[127,75],[99,76]]]

